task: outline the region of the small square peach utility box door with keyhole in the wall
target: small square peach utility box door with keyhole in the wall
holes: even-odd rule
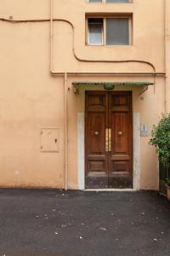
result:
[[[40,131],[41,152],[59,152],[59,129],[42,128]]]

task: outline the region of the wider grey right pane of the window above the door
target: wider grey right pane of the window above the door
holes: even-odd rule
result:
[[[106,44],[129,44],[128,18],[106,19]]]

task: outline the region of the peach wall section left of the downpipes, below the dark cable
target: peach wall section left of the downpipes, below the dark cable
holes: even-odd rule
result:
[[[63,186],[63,78],[48,65],[47,24],[1,24],[0,185]],[[59,153],[40,152],[40,129],[59,128]]]

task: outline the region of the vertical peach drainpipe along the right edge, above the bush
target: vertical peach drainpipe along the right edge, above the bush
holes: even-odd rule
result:
[[[165,69],[166,69],[166,112],[170,111],[170,1],[164,0],[165,16]]]

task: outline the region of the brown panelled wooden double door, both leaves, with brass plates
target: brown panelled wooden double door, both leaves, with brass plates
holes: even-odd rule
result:
[[[86,188],[132,188],[132,93],[86,91],[85,97]]]

